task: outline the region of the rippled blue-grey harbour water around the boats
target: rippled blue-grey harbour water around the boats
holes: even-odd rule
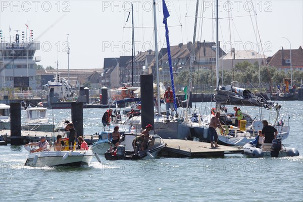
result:
[[[216,159],[160,158],[143,161],[95,159],[84,168],[24,166],[23,146],[0,146],[0,201],[303,201],[302,102],[281,102],[290,114],[285,146],[299,157],[247,159],[233,155]],[[210,103],[197,107],[210,107]],[[84,109],[85,134],[101,128],[105,110]],[[257,108],[243,112],[259,115]],[[269,112],[263,110],[265,116]],[[49,111],[55,122],[70,110]]]

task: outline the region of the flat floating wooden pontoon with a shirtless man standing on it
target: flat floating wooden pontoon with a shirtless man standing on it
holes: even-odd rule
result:
[[[224,157],[225,154],[242,154],[243,149],[235,146],[220,145],[211,148],[210,143],[182,139],[163,139],[166,146],[162,149],[164,157]]]

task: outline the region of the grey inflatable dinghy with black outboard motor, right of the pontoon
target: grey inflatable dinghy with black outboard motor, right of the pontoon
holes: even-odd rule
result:
[[[276,139],[273,143],[262,143],[261,148],[246,143],[243,146],[243,154],[252,158],[297,157],[299,151],[296,148],[285,147],[280,139]]]

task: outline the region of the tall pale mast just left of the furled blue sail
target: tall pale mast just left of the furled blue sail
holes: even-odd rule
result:
[[[158,102],[158,108],[157,112],[160,114],[160,81],[159,81],[159,61],[158,61],[158,39],[157,39],[157,19],[156,19],[156,0],[153,0],[154,5],[154,34],[155,34],[155,59],[156,59],[156,72],[157,72],[157,102]]]

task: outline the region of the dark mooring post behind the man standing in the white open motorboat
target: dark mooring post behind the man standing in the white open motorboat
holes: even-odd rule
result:
[[[83,103],[72,102],[72,122],[77,135],[83,136]]]

